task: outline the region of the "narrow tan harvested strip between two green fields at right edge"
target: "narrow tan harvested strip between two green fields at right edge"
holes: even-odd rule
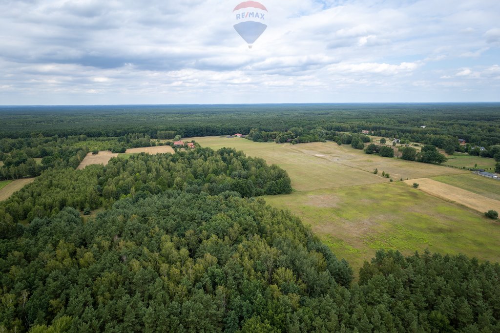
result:
[[[445,200],[463,204],[466,207],[475,209],[479,212],[488,211],[489,209],[498,209],[500,201],[491,199],[484,195],[473,193],[471,191],[445,184],[440,181],[422,178],[406,180],[407,184],[411,185],[414,182],[418,183],[418,189],[433,196],[443,198]]]

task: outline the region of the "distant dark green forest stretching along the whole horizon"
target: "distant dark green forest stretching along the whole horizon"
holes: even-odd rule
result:
[[[169,131],[194,137],[248,134],[252,128],[286,132],[293,127],[307,131],[320,127],[355,133],[370,130],[383,137],[408,136],[439,147],[449,138],[463,138],[480,146],[500,144],[498,103],[2,106],[0,116],[0,137],[11,138],[32,133],[88,137],[144,133],[158,138],[158,132],[164,135]]]

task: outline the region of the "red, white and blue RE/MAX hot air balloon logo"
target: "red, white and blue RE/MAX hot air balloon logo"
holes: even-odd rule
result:
[[[267,9],[257,1],[244,1],[232,11],[236,19],[234,29],[248,43],[248,48],[265,31]]]

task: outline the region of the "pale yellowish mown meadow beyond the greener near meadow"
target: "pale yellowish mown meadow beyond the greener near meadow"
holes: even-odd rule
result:
[[[339,146],[334,142],[292,145],[213,136],[194,139],[201,146],[213,149],[232,147],[243,150],[247,155],[262,157],[270,164],[277,164],[288,172],[296,190],[388,182],[388,178],[381,176],[382,171],[397,180],[401,177],[412,179],[464,172],[438,165],[368,155],[350,145]],[[372,172],[375,168],[379,170],[378,175]]]

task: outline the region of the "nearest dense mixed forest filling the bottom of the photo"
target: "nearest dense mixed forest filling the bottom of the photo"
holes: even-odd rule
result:
[[[351,283],[345,261],[261,199],[167,190],[16,232],[0,241],[3,331],[500,330],[498,264],[379,251]]]

